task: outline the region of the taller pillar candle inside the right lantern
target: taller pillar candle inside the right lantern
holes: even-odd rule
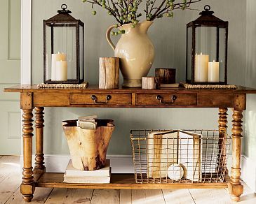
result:
[[[196,54],[195,59],[195,72],[194,80],[195,82],[207,82],[208,80],[208,54]]]

